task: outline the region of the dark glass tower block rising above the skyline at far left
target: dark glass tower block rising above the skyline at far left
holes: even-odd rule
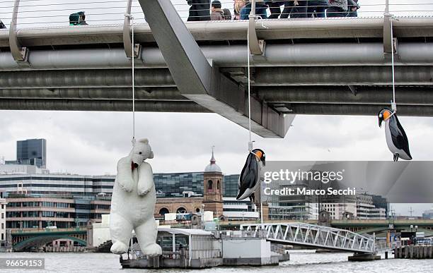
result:
[[[6,164],[33,165],[40,169],[47,168],[47,140],[33,139],[16,142],[16,160]]]

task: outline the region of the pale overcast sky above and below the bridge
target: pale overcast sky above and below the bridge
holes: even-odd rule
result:
[[[186,20],[189,8],[186,1],[173,2]],[[233,6],[231,0],[222,2],[226,8]],[[360,0],[359,3],[360,16],[382,16],[384,0]],[[20,13],[18,23],[20,28],[64,25],[69,13],[75,11],[86,11],[93,25],[122,23],[125,4],[114,0],[91,0],[87,4],[69,0],[23,1],[21,11],[27,12]],[[407,6],[403,0],[391,0],[391,4],[398,4],[391,6],[394,13],[403,11],[398,15],[433,16],[433,4]],[[12,4],[4,5],[0,18],[8,25]],[[137,22],[144,23],[137,1],[134,6]],[[265,150],[267,160],[392,160],[375,114],[296,116],[285,139],[254,136],[255,147]],[[400,121],[408,133],[414,160],[431,160],[433,144],[429,139],[433,135],[433,119],[400,117]],[[115,174],[117,160],[131,148],[131,123],[129,113],[0,111],[0,157],[16,158],[16,140],[45,138],[47,165],[52,172]],[[217,164],[224,173],[238,174],[248,147],[248,131],[217,114],[139,113],[137,138],[149,138],[155,153],[150,163],[158,173],[202,171],[209,163],[214,145]],[[407,207],[397,206],[396,210],[408,214]],[[413,206],[415,214],[426,208],[429,206]]]

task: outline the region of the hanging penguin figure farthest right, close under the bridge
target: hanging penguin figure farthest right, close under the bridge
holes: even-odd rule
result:
[[[409,151],[408,136],[406,136],[403,126],[398,121],[397,115],[389,108],[383,108],[378,114],[379,127],[382,127],[382,122],[385,121],[386,144],[389,150],[394,155],[394,161],[399,158],[412,160]]]

